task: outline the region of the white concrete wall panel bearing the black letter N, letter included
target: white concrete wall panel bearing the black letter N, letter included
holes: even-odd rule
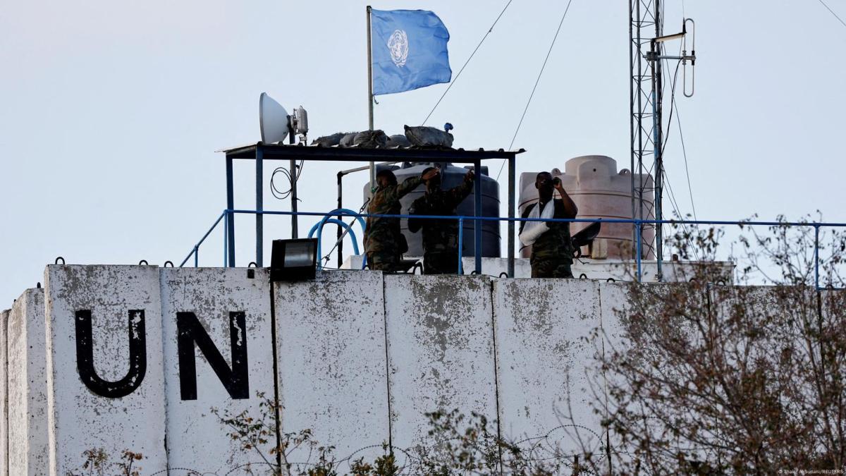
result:
[[[265,458],[276,461],[270,452],[275,434],[266,445],[244,450],[243,439],[233,440],[233,428],[220,419],[246,412],[246,418],[259,421],[256,393],[274,395],[266,269],[250,269],[252,278],[244,268],[161,268],[159,274],[169,467],[202,474],[240,474],[248,468],[270,473]],[[275,431],[272,413],[265,421]]]

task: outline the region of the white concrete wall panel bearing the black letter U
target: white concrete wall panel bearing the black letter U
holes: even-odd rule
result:
[[[47,406],[50,473],[79,472],[91,450],[167,469],[158,268],[47,267]]]

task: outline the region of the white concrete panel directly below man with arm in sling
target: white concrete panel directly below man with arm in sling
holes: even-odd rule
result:
[[[503,437],[525,440],[530,457],[555,447],[571,454],[579,452],[575,423],[592,430],[583,438],[596,446],[601,428],[590,403],[602,388],[591,388],[596,347],[582,338],[600,325],[598,284],[498,280],[493,290]]]

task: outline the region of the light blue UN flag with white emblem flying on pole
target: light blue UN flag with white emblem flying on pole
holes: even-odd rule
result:
[[[371,10],[373,94],[448,83],[449,31],[426,10]]]

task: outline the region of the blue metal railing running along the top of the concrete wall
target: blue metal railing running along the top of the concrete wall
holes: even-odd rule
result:
[[[228,234],[226,230],[228,230],[228,222],[231,216],[237,213],[242,214],[261,214],[261,215],[297,215],[297,216],[305,216],[305,217],[321,217],[324,220],[323,223],[325,224],[328,219],[332,217],[338,216],[338,210],[333,210],[332,212],[328,213],[318,213],[318,212],[282,212],[282,211],[271,211],[271,210],[239,210],[239,209],[226,209],[223,210],[217,220],[215,220],[214,224],[211,225],[211,228],[206,231],[206,234],[197,242],[197,244],[192,248],[191,252],[182,263],[179,263],[179,267],[182,268],[185,263],[193,256],[194,257],[194,265],[197,266],[199,263],[199,251],[200,246],[202,245],[203,241],[206,241],[211,232],[217,227],[217,224],[220,223],[221,220],[224,221],[224,233],[223,233],[223,265],[228,266]],[[727,226],[727,225],[734,225],[734,226],[794,226],[794,227],[813,227],[814,228],[814,283],[818,290],[823,288],[820,287],[820,229],[821,228],[846,228],[846,223],[829,223],[829,222],[783,222],[783,221],[750,221],[750,220],[741,220],[741,221],[729,221],[729,220],[649,220],[649,219],[523,219],[523,218],[508,218],[508,217],[473,217],[473,216],[443,216],[443,215],[404,215],[404,214],[387,214],[387,215],[379,215],[379,214],[370,214],[370,213],[353,213],[349,210],[343,211],[344,216],[348,216],[355,219],[366,219],[369,217],[373,218],[386,218],[386,219],[446,219],[446,220],[457,220],[459,224],[459,243],[458,243],[458,263],[459,263],[459,274],[462,274],[462,263],[461,263],[461,250],[464,244],[464,221],[497,221],[497,222],[551,222],[551,223],[603,223],[603,224],[633,224],[634,225],[634,241],[635,241],[635,261],[637,263],[637,280],[640,281],[643,275],[642,271],[642,238],[641,238],[641,229],[643,225],[717,225],[717,226]],[[318,223],[319,225],[320,223]],[[351,225],[348,225],[351,228]],[[827,289],[832,289],[830,286]]]

